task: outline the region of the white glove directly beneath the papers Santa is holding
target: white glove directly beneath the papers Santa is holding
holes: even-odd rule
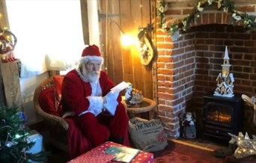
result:
[[[112,115],[115,115],[115,110],[118,105],[118,101],[117,101],[118,95],[119,93],[113,93],[112,91],[110,91],[109,93],[106,94],[106,96],[104,96],[104,98],[106,99],[106,102],[104,102],[103,106]]]

